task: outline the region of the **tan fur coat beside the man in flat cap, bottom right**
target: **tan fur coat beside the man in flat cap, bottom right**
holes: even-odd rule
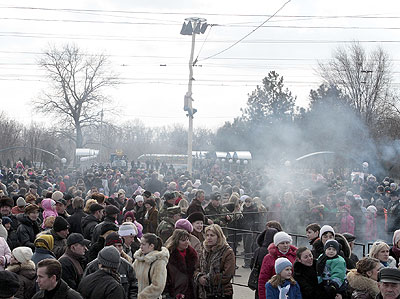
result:
[[[356,269],[347,273],[347,280],[353,289],[352,299],[374,299],[379,294],[378,282],[359,274]]]

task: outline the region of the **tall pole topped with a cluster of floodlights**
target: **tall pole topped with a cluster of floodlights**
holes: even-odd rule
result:
[[[186,18],[185,22],[182,25],[181,34],[182,35],[191,35],[192,36],[192,49],[190,51],[189,58],[189,83],[188,83],[188,91],[186,92],[184,99],[183,110],[187,112],[187,116],[189,117],[189,129],[188,129],[188,166],[187,170],[191,174],[192,173],[192,139],[193,139],[193,115],[197,112],[196,109],[192,107],[192,81],[193,79],[193,55],[194,55],[194,44],[196,41],[196,34],[204,33],[207,30],[208,24],[206,19],[203,18]]]

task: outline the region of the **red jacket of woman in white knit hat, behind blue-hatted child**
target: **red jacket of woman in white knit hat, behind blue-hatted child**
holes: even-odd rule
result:
[[[264,257],[258,276],[258,298],[266,298],[265,284],[275,275],[275,260],[279,257],[287,258],[292,264],[296,261],[297,248],[290,245],[286,254],[281,253],[274,243],[268,246],[268,254]]]

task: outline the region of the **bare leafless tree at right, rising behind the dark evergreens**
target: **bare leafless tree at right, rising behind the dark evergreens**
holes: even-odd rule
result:
[[[368,127],[387,111],[393,99],[390,95],[392,72],[383,49],[378,47],[366,53],[359,43],[353,43],[338,48],[333,59],[320,63],[319,67],[322,78],[349,97]]]

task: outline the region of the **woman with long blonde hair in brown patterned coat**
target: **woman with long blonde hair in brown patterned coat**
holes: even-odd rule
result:
[[[203,252],[195,272],[198,298],[232,298],[231,279],[235,273],[235,254],[218,224],[205,229]]]

